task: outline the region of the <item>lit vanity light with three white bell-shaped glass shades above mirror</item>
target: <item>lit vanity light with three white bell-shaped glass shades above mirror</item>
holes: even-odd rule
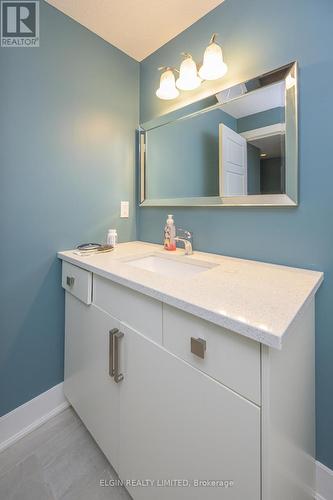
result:
[[[202,66],[197,70],[197,65],[191,54],[183,53],[184,59],[180,65],[180,70],[169,66],[158,68],[163,70],[160,78],[160,86],[156,91],[160,99],[175,99],[179,96],[180,90],[194,90],[200,86],[203,80],[217,80],[222,78],[228,71],[228,66],[223,61],[222,48],[216,43],[217,34],[214,33],[209,45],[205,50]],[[174,72],[179,73],[175,81]]]

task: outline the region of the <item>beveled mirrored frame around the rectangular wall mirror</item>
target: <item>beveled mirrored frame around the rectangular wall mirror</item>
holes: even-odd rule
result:
[[[274,77],[277,75],[283,75],[281,78]],[[221,107],[220,103],[203,107],[199,111],[195,111],[189,114],[181,115],[181,111],[184,108],[189,108],[193,104],[203,103],[207,100],[198,100],[190,106],[184,106],[184,108],[179,108],[174,112],[168,113],[159,117],[157,120],[152,122],[147,122],[138,128],[139,135],[139,201],[140,206],[144,207],[162,207],[162,206],[182,206],[182,207],[230,207],[230,206],[297,206],[298,205],[298,65],[297,62],[289,63],[285,66],[281,66],[270,72],[264,73],[260,76],[255,76],[245,82],[238,82],[233,87],[233,89],[241,84],[248,84],[252,80],[260,79],[263,82],[267,82],[264,86],[271,85],[278,81],[286,80],[287,77],[293,79],[293,85],[290,89],[285,90],[285,127],[286,127],[286,193],[285,194],[258,194],[258,195],[246,195],[246,196],[208,196],[208,197],[193,197],[193,198],[161,198],[161,199],[146,199],[146,164],[145,164],[145,144],[146,144],[146,133],[163,125],[167,125],[174,121],[185,120],[190,117],[194,117],[201,113],[206,113],[207,111],[217,109]],[[221,87],[218,92],[222,90],[228,90],[228,87]],[[292,96],[292,102],[288,99],[287,91],[294,90],[294,95]],[[249,94],[249,91],[245,95]],[[217,93],[217,92],[216,92]],[[214,96],[215,94],[213,94]],[[243,94],[244,95],[244,94]],[[242,97],[242,96],[240,96]],[[235,99],[239,99],[236,97]],[[173,118],[174,116],[176,118]],[[180,115],[180,116],[179,116]]]

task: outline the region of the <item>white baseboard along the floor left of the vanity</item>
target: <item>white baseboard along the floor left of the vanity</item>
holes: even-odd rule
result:
[[[0,452],[68,406],[61,383],[0,417]]]

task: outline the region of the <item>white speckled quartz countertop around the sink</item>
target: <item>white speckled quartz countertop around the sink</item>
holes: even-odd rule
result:
[[[168,277],[126,262],[152,254],[217,265],[192,277]],[[139,241],[122,243],[100,255],[79,256],[65,251],[58,257],[278,349],[323,280],[321,272],[196,251],[184,256],[181,249],[166,252],[161,245]]]

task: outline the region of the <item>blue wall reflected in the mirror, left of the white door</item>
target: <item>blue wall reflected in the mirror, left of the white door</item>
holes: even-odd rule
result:
[[[237,120],[220,109],[147,131],[147,198],[219,195],[219,124]]]

